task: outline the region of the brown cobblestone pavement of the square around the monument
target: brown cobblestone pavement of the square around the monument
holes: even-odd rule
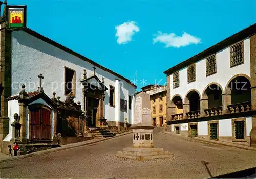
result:
[[[1,178],[209,178],[256,166],[256,152],[154,133],[154,144],[174,157],[134,161],[114,156],[132,134],[47,155],[0,163]]]

